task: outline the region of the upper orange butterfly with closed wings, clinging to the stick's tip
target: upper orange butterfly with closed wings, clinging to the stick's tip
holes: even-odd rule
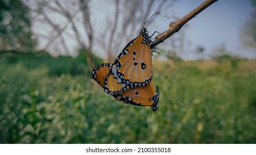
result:
[[[146,86],[152,80],[152,40],[144,27],[146,22],[142,24],[140,36],[125,46],[107,73],[104,82],[104,91],[107,94],[121,94],[134,87]]]

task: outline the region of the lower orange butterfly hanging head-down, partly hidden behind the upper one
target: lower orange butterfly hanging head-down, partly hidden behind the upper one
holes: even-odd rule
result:
[[[107,74],[111,70],[114,64],[106,63],[96,66],[90,73],[90,76],[101,86],[104,87],[104,83]],[[112,81],[114,82],[114,81]],[[112,95],[117,100],[122,101],[126,104],[136,105],[136,106],[151,106],[152,111],[158,110],[157,104],[159,100],[158,87],[156,89],[151,81],[146,86],[134,87],[133,89],[128,89],[121,94]]]

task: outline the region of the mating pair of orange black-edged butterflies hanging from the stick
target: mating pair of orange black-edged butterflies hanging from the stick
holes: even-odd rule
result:
[[[117,100],[137,106],[151,106],[152,111],[156,111],[159,92],[152,81],[152,41],[144,27],[146,22],[140,36],[125,46],[114,64],[100,64],[91,71],[90,76]]]

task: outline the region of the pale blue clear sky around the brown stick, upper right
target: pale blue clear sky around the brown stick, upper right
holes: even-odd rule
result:
[[[182,17],[202,2],[204,1],[182,0],[176,3],[171,12]],[[219,0],[213,3],[188,22],[188,27],[185,28],[188,42],[185,44],[184,53],[181,54],[182,58],[196,58],[193,50],[198,45],[204,46],[207,53],[210,53],[221,44],[235,55],[252,58],[253,54],[242,48],[239,39],[239,31],[252,11],[250,0]],[[169,22],[164,19],[162,25],[168,25]],[[164,28],[161,29],[164,30]]]

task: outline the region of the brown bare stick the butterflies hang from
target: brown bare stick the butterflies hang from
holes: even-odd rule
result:
[[[171,37],[173,34],[178,32],[183,25],[185,25],[189,20],[197,16],[198,13],[202,12],[207,7],[211,6],[214,2],[217,2],[218,0],[206,0],[204,1],[200,6],[195,8],[193,11],[188,13],[186,16],[182,17],[181,19],[176,20],[175,22],[171,22],[169,24],[169,29],[167,29],[165,32],[158,34],[153,41],[153,43],[150,45],[150,48],[154,48],[156,45],[163,43],[163,41],[169,37]]]

